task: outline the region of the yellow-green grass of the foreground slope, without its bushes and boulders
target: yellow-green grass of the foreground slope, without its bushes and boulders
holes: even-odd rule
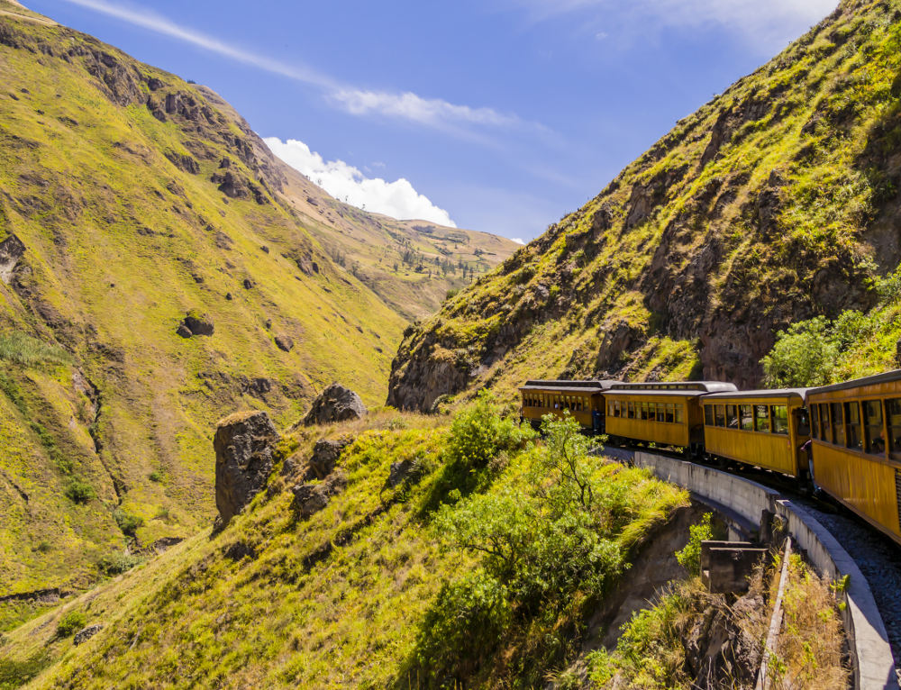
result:
[[[323,432],[357,436],[340,462],[349,486],[321,513],[308,521],[292,517],[291,493],[277,468],[268,491],[221,535],[197,535],[25,623],[7,634],[3,655],[7,662],[49,655],[52,665],[32,687],[405,687],[423,614],[443,582],[478,565],[439,549],[422,512],[441,477],[435,460],[445,446],[446,419],[379,413],[365,425],[296,439],[286,447],[303,458]],[[489,490],[520,485],[528,452],[509,458]],[[409,458],[424,458],[431,474],[405,494],[385,489],[391,463]],[[641,472],[630,481],[626,546],[686,502],[677,488]],[[350,540],[341,537],[347,531]],[[238,543],[253,555],[224,555]],[[310,557],[330,544],[331,552],[311,565]],[[54,639],[70,611],[105,629],[80,647]],[[509,659],[541,646],[545,634],[566,630],[563,622],[523,623],[480,682],[514,679]]]

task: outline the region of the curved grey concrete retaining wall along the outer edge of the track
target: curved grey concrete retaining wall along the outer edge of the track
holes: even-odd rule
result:
[[[613,451],[613,449],[609,449]],[[623,451],[605,454],[617,459]],[[885,624],[879,615],[869,584],[845,549],[803,506],[782,499],[777,491],[749,479],[714,468],[653,453],[635,452],[633,464],[648,468],[656,477],[682,486],[705,503],[722,504],[750,524],[760,525],[766,513],[786,520],[788,531],[807,559],[824,577],[849,577],[843,593],[845,631],[854,663],[854,687],[860,690],[896,690],[895,664]]]

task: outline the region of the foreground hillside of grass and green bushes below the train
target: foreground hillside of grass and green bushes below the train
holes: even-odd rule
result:
[[[533,686],[578,654],[633,549],[687,503],[587,458],[571,422],[550,431],[536,443],[482,398],[450,424],[376,413],[296,432],[225,531],[25,623],[3,654],[48,652],[35,687]],[[323,432],[354,439],[335,470],[347,487],[303,517],[288,489]],[[53,636],[73,611],[105,626],[77,647]]]

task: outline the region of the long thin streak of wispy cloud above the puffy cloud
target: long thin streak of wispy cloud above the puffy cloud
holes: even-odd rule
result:
[[[251,50],[236,48],[214,36],[197,32],[142,8],[115,5],[106,0],[65,0],[65,2],[190,43],[245,65],[315,86],[325,92],[326,100],[333,106],[354,115],[378,114],[464,135],[466,132],[461,128],[466,126],[546,129],[537,123],[525,123],[514,114],[498,113],[493,108],[474,108],[469,105],[452,104],[441,98],[423,98],[410,92],[393,94],[341,84],[338,79],[314,68],[303,64],[289,64]]]

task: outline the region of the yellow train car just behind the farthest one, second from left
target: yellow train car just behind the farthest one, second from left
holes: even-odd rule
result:
[[[735,390],[735,386],[719,381],[615,384],[604,394],[606,433],[619,439],[702,449],[704,418],[698,401],[720,390]]]

